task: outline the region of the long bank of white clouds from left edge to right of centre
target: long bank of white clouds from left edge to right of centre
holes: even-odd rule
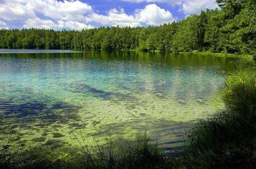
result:
[[[148,2],[153,1],[148,0]],[[92,22],[101,25],[136,27],[143,24],[160,25],[173,21],[172,13],[156,4],[136,9],[131,15],[126,14],[121,7],[112,8],[106,15],[101,15],[81,0],[1,0],[0,18],[20,21],[24,23],[25,28],[75,30],[93,28],[90,25]]]

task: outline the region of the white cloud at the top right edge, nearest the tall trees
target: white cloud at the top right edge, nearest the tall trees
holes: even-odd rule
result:
[[[179,5],[179,11],[184,14],[200,13],[201,10],[215,9],[218,7],[216,0],[123,0],[126,2],[158,2],[168,3],[172,6]]]

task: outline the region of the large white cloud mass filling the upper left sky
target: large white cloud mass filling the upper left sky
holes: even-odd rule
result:
[[[25,28],[70,28],[81,30],[93,28],[86,23],[91,22],[87,17],[93,8],[79,0],[1,0],[0,18],[5,20],[21,20]],[[50,19],[37,17],[41,13]],[[56,23],[57,21],[57,23]]]

